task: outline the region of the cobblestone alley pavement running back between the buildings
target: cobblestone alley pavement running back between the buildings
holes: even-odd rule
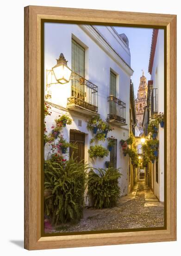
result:
[[[120,198],[111,209],[84,209],[84,217],[75,225],[59,226],[51,232],[77,232],[110,229],[137,229],[164,226],[164,207],[143,181],[129,195]]]

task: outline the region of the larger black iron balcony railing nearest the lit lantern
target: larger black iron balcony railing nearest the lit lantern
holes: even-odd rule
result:
[[[98,87],[76,73],[73,73],[71,82],[71,97],[67,106],[77,105],[98,112]]]

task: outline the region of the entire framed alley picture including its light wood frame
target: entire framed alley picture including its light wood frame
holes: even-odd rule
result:
[[[25,249],[176,240],[176,16],[25,7]]]

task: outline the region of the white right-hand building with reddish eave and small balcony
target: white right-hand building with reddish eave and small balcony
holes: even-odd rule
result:
[[[148,119],[154,119],[159,113],[164,113],[164,30],[154,29],[150,53],[149,81],[150,104]],[[164,128],[159,125],[157,139],[159,140],[158,162],[151,164],[151,187],[159,199],[164,201]]]

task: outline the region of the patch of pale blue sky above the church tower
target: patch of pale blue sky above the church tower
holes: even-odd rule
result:
[[[137,89],[139,86],[142,69],[144,75],[150,80],[148,73],[148,65],[150,59],[150,47],[152,39],[152,28],[137,28],[137,27],[114,27],[118,34],[124,33],[129,40],[129,48],[131,53],[131,68],[134,74],[131,80],[134,84],[134,93],[137,96]]]

